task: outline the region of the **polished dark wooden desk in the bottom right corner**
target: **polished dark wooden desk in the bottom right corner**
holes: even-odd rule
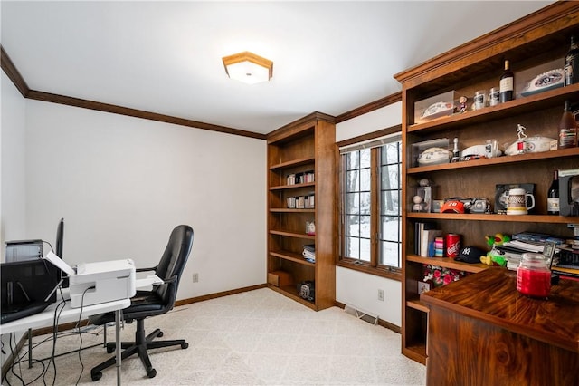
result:
[[[428,385],[578,384],[579,282],[531,299],[517,293],[514,271],[489,268],[421,300]]]

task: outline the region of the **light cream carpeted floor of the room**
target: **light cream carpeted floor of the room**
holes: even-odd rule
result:
[[[147,319],[147,333],[161,328],[161,339],[184,338],[189,347],[149,352],[157,376],[149,379],[137,356],[122,362],[127,385],[423,385],[425,367],[400,353],[400,334],[359,320],[338,307],[314,312],[270,289],[233,294],[176,307]],[[132,340],[135,324],[126,324],[123,340]],[[114,326],[107,329],[114,340]],[[82,346],[101,343],[101,328],[82,333]],[[38,336],[34,358],[52,352],[52,335]],[[46,341],[44,343],[41,343]],[[62,334],[56,352],[81,345],[78,333]],[[24,347],[24,354],[27,346]],[[33,369],[23,360],[14,366],[26,384],[114,385],[114,367],[100,381],[90,380],[90,368],[111,354],[99,347],[63,355]],[[82,370],[82,365],[84,370]],[[56,380],[53,380],[54,365]],[[38,378],[40,377],[40,378]],[[36,379],[36,381],[33,381]],[[31,382],[32,383],[29,383]],[[3,384],[22,385],[8,372]]]

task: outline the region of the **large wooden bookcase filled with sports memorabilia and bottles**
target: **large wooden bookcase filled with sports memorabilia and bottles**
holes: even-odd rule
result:
[[[394,75],[402,83],[403,122],[403,318],[402,351],[417,362],[426,362],[429,323],[432,313],[421,301],[418,285],[424,276],[422,265],[438,265],[476,275],[484,275],[489,265],[467,264],[448,257],[422,257],[416,254],[416,224],[432,223],[442,234],[461,236],[462,246],[486,246],[485,236],[530,231],[573,237],[567,224],[578,224],[579,217],[546,215],[546,192],[553,171],[579,169],[579,148],[550,150],[476,159],[431,166],[416,165],[413,145],[426,140],[459,139],[460,150],[497,140],[501,150],[517,140],[517,124],[527,128],[527,136],[557,138],[557,125],[566,100],[579,102],[579,83],[558,89],[517,97],[479,111],[466,111],[432,121],[414,124],[415,106],[443,92],[472,96],[477,90],[496,87],[503,63],[508,59],[515,72],[516,90],[536,74],[546,71],[569,49],[571,34],[579,28],[579,3],[555,2],[536,13],[510,23]],[[549,47],[540,50],[539,47]],[[563,65],[563,63],[561,63]],[[536,72],[536,73],[535,73]],[[414,151],[413,151],[414,150]],[[412,212],[415,187],[421,179],[432,181],[433,199],[451,197],[486,198],[494,208],[500,184],[533,184],[535,207],[529,215],[450,214]],[[564,189],[561,187],[561,189]],[[460,282],[459,282],[460,284]],[[426,294],[437,294],[446,287]],[[449,289],[450,290],[450,289]]]

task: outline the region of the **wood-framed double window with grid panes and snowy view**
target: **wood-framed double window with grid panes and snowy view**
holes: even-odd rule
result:
[[[340,261],[400,275],[400,133],[340,149]]]

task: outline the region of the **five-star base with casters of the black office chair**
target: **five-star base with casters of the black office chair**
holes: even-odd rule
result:
[[[147,370],[147,377],[154,378],[157,375],[157,371],[153,369],[151,365],[151,361],[148,358],[149,349],[158,349],[162,347],[170,347],[170,346],[181,346],[182,349],[186,349],[189,347],[189,343],[185,342],[185,339],[176,339],[172,341],[155,341],[155,338],[160,338],[163,336],[163,332],[158,328],[149,333],[145,336],[145,321],[140,319],[137,321],[137,330],[135,331],[135,342],[121,342],[120,348],[123,350],[121,352],[121,361],[124,361],[125,358],[133,354],[138,354],[138,357],[145,365],[145,369]],[[117,343],[107,343],[107,352],[112,353],[117,348]],[[92,381],[99,381],[100,377],[102,377],[102,371],[109,366],[115,365],[117,359],[115,357],[110,358],[106,362],[100,363],[100,365],[95,366],[90,370],[90,379]]]

